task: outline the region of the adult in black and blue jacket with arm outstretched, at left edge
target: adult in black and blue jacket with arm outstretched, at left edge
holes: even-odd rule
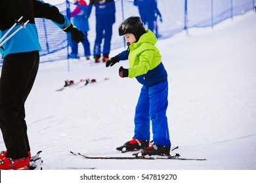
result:
[[[25,102],[39,67],[39,44],[35,18],[52,20],[75,42],[85,39],[58,8],[37,0],[0,0],[0,37],[19,20],[27,22],[0,49],[3,67],[0,78],[0,128],[7,150],[0,153],[0,169],[29,169],[30,143],[25,120]],[[16,25],[13,33],[22,25]],[[7,39],[7,37],[5,38]]]

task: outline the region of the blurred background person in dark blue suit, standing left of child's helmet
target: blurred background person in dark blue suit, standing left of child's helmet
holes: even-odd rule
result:
[[[93,5],[96,14],[96,39],[93,49],[95,63],[100,62],[100,54],[102,53],[102,61],[108,61],[110,54],[110,44],[112,39],[112,26],[116,22],[116,5],[114,0],[90,0],[88,17],[91,14]],[[101,51],[102,39],[104,38],[104,46]]]

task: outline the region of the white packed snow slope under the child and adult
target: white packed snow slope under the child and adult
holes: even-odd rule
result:
[[[141,85],[120,78],[120,66],[55,61],[40,65],[26,102],[32,154],[42,150],[43,169],[256,169],[256,14],[211,28],[190,29],[158,41],[169,75],[167,118],[178,160],[102,160],[72,156],[132,156],[116,147],[133,137],[133,118]],[[124,48],[123,48],[124,49]],[[113,50],[111,55],[123,49]],[[55,90],[64,80],[96,78],[83,88]],[[102,81],[104,78],[109,80]],[[5,145],[1,138],[1,149]]]

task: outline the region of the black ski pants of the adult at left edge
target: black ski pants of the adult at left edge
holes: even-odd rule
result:
[[[32,90],[38,67],[38,51],[10,54],[3,60],[0,127],[8,158],[25,158],[30,151],[24,104]]]

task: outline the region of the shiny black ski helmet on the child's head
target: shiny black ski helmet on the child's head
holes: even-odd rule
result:
[[[136,40],[140,39],[140,36],[144,34],[145,27],[139,16],[130,16],[126,20],[123,20],[119,25],[119,35],[125,35],[127,33],[133,33]]]

